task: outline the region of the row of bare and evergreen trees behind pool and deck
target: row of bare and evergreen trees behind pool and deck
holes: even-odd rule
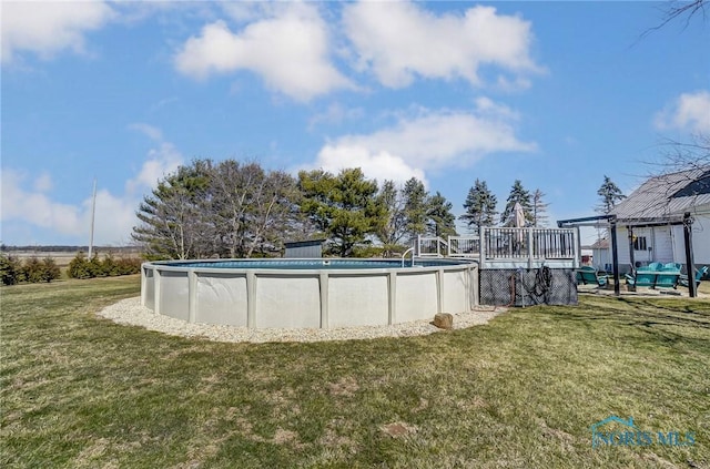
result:
[[[459,220],[470,233],[513,226],[519,203],[527,226],[548,223],[545,194],[519,180],[504,210],[485,181],[476,180]],[[143,197],[132,238],[150,259],[265,257],[284,242],[325,239],[326,254],[392,256],[418,235],[456,235],[453,205],[416,177],[378,184],[361,169],[293,176],[255,162],[194,160],[159,181]]]

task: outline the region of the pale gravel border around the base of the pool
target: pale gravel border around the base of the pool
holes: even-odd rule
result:
[[[481,306],[470,313],[455,314],[454,329],[465,329],[486,324],[506,310],[507,308],[504,307]],[[140,297],[123,299],[103,308],[97,315],[118,324],[141,326],[149,330],[156,330],[172,336],[200,337],[214,341],[231,343],[352,340],[424,336],[442,332],[428,320],[415,320],[392,326],[343,327],[336,329],[247,329],[246,327],[224,325],[190,324],[153,313],[151,309],[141,306]]]

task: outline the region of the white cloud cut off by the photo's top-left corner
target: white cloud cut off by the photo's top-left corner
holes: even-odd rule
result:
[[[19,51],[42,59],[70,49],[84,52],[84,34],[103,27],[114,16],[101,1],[2,2],[2,62]]]

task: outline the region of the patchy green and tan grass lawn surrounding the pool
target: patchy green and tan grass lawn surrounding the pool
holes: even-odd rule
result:
[[[590,295],[425,337],[254,345],[94,315],[139,284],[0,290],[0,467],[710,467],[708,300]],[[694,445],[592,448],[611,415]]]

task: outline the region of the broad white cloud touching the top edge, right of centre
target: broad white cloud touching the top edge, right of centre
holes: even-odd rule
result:
[[[497,14],[493,7],[436,16],[409,2],[361,2],[345,7],[343,21],[359,69],[372,69],[386,86],[406,86],[416,75],[480,84],[478,69],[485,64],[540,71],[529,55],[530,22]],[[515,80],[498,82],[510,86]]]

